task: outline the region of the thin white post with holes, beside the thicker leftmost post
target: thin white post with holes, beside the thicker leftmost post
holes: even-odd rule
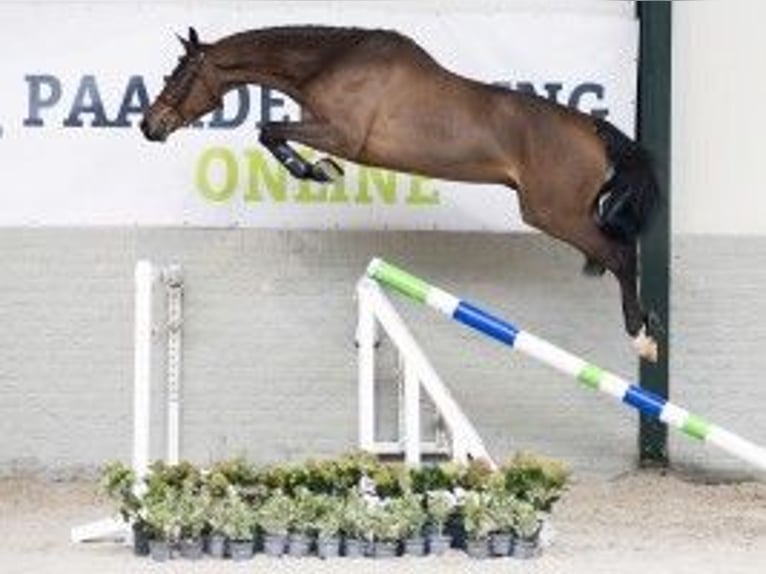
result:
[[[183,279],[179,265],[163,273],[167,292],[167,461],[178,464],[181,450],[181,326]]]

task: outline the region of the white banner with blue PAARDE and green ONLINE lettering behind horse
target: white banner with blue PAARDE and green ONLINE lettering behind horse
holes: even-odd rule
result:
[[[189,25],[207,42],[286,23],[394,28],[458,73],[535,90],[633,132],[630,19],[227,4],[0,4],[0,225],[523,228],[504,187],[347,162],[341,183],[291,179],[258,144],[256,126],[298,110],[256,86],[230,92],[202,127],[147,142],[141,109],[181,53],[175,32]]]

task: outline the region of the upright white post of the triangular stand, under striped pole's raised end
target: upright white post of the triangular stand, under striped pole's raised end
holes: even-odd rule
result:
[[[366,289],[357,287],[359,318],[359,448],[372,450],[375,441],[375,317]]]

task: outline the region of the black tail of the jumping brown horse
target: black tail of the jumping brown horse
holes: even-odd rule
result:
[[[603,185],[595,205],[599,227],[624,241],[646,228],[660,201],[660,188],[649,153],[605,120],[596,120],[604,141],[612,176]]]

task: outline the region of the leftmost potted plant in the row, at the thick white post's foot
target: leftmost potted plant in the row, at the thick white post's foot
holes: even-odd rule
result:
[[[117,506],[121,518],[133,531],[133,551],[136,556],[148,556],[150,532],[141,516],[143,504],[136,494],[136,473],[120,461],[104,465],[99,490]]]

